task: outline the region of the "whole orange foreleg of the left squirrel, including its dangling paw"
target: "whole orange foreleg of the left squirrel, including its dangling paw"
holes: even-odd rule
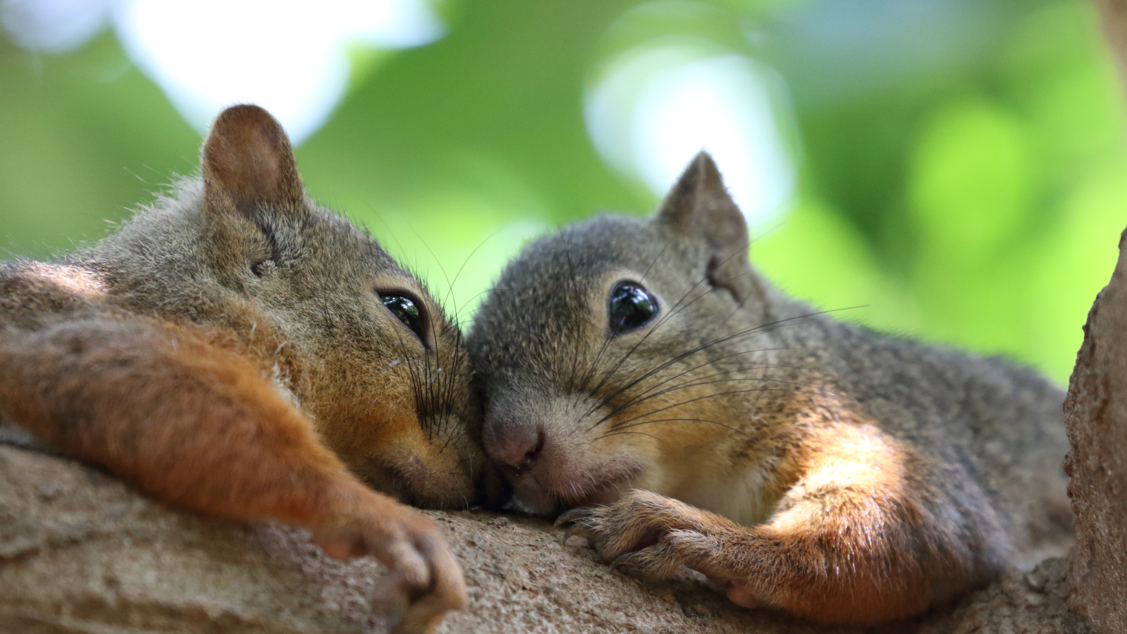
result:
[[[0,412],[159,500],[301,526],[337,557],[371,553],[414,599],[398,631],[425,631],[465,602],[429,518],[366,487],[247,359],[190,329],[118,319],[0,329]]]

